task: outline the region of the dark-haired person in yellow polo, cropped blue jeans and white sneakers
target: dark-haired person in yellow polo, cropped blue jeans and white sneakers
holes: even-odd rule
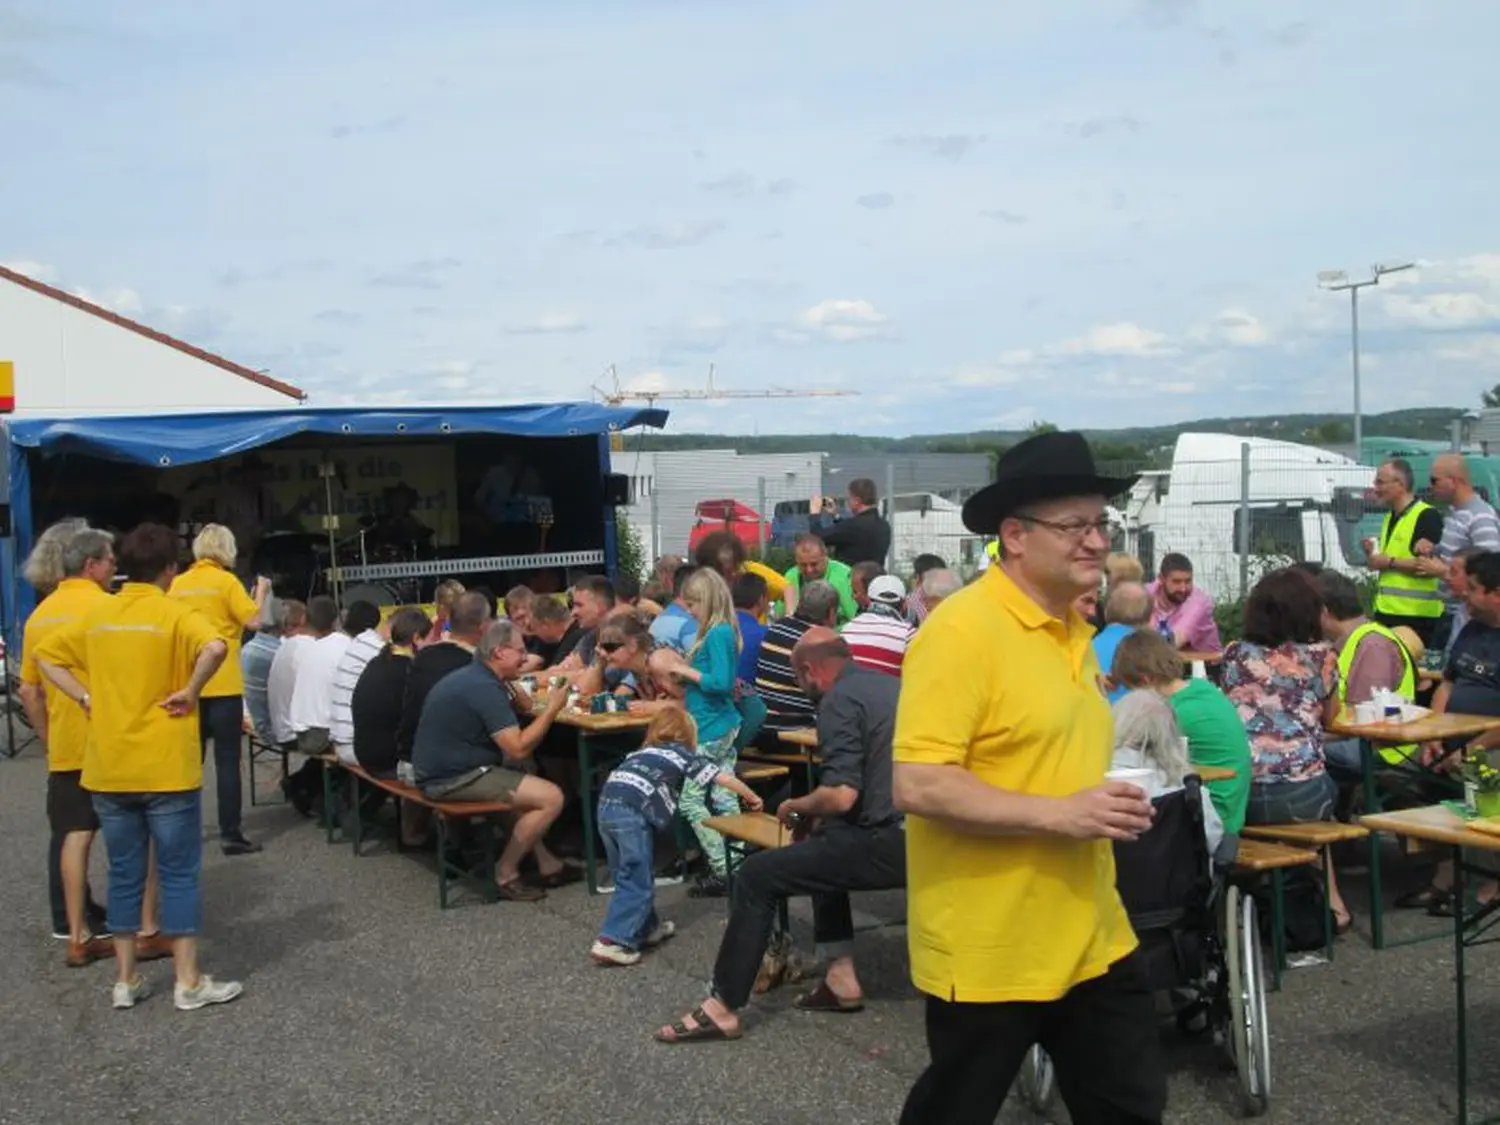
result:
[[[177,574],[177,536],[142,524],[120,544],[128,580],[114,597],[51,633],[36,663],[88,714],[82,788],[110,850],[110,922],[118,976],[116,1008],[147,994],[135,970],[147,856],[156,846],[160,927],[172,939],[177,1008],[192,1011],[240,994],[236,981],[198,972],[202,914],[202,758],[198,698],[228,646],[201,614],[166,597]]]

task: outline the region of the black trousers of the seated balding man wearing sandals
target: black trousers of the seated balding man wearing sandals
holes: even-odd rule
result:
[[[714,994],[730,1008],[750,1002],[760,960],[771,944],[776,906],[786,896],[813,897],[819,945],[854,940],[849,891],[906,886],[906,832],[828,826],[788,848],[756,852],[735,868],[729,927],[714,962]]]

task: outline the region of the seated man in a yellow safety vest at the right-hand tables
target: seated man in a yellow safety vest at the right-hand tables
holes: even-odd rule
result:
[[[1370,621],[1359,604],[1359,590],[1336,570],[1317,576],[1323,597],[1323,636],[1338,652],[1340,708],[1370,702],[1376,688],[1386,687],[1407,699],[1416,696],[1416,663],[1401,639],[1386,626]],[[1414,754],[1416,746],[1382,746],[1380,756],[1400,765]],[[1329,772],[1341,782],[1362,778],[1359,740],[1328,740],[1323,756]]]

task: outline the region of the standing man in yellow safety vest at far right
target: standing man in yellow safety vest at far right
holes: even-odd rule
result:
[[[1413,544],[1437,543],[1443,516],[1413,492],[1412,466],[1394,458],[1376,470],[1376,494],[1388,508],[1378,540],[1365,540],[1370,568],[1380,578],[1376,591],[1376,621],[1395,628],[1407,626],[1424,645],[1443,616],[1438,579],[1424,574]]]

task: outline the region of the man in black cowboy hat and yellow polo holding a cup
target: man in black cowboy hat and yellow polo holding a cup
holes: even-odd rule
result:
[[[902,670],[896,802],[908,813],[912,980],[932,1065],[902,1125],[990,1125],[1034,1044],[1077,1125],[1160,1122],[1166,1077],[1114,840],[1150,826],[1107,782],[1113,728],[1094,630],[1071,603],[1100,584],[1104,501],[1077,434],[1000,458],[963,522],[1000,558],[945,598]]]

